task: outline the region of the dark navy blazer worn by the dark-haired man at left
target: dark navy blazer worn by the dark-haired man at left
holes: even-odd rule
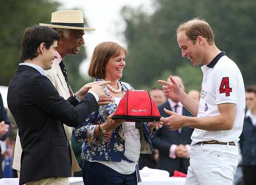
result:
[[[8,87],[8,107],[15,118],[23,152],[19,184],[48,177],[70,177],[71,159],[63,124],[78,127],[98,108],[90,93],[64,100],[36,69],[19,65]]]

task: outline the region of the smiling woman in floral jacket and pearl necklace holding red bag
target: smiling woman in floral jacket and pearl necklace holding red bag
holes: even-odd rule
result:
[[[111,81],[103,85],[105,95],[113,102],[100,106],[74,131],[78,141],[83,141],[83,179],[85,185],[136,185],[135,166],[140,153],[150,154],[153,149],[150,138],[160,122],[143,123],[135,129],[134,122],[111,119],[128,89],[129,83],[120,81],[126,49],[115,42],[102,42],[96,46],[88,68],[95,81]]]

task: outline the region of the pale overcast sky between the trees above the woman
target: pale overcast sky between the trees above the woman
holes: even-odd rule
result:
[[[124,36],[120,34],[125,29],[120,11],[123,6],[134,8],[143,6],[143,10],[150,10],[150,0],[55,0],[63,6],[59,10],[78,9],[83,10],[88,27],[96,28],[95,31],[86,31],[84,35],[86,54],[88,58],[80,67],[82,76],[87,76],[86,70],[92,52],[97,44],[105,41],[117,42],[127,46]]]

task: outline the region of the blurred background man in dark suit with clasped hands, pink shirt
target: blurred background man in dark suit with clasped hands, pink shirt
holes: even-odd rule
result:
[[[180,85],[180,88],[185,90],[182,79],[178,76],[174,76],[174,78]],[[168,101],[157,108],[161,116],[169,117],[170,115],[164,112],[164,108],[175,111],[175,106],[179,106],[183,116],[193,116],[178,100],[168,99]],[[178,110],[178,108],[176,109]],[[163,125],[162,129],[158,129],[155,132],[155,136],[151,141],[153,147],[159,150],[157,169],[168,171],[170,176],[174,175],[174,170],[187,174],[191,144],[190,137],[193,130],[190,127],[183,127],[180,130],[170,131],[168,127]]]

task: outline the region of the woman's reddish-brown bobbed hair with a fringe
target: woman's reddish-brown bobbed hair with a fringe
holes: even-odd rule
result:
[[[92,59],[88,67],[88,75],[93,78],[105,79],[105,67],[111,57],[126,55],[126,48],[115,42],[101,42],[93,51]]]

